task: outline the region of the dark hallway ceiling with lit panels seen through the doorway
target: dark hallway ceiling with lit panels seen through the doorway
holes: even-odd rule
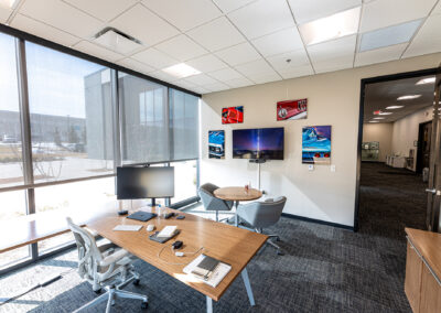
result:
[[[429,77],[434,76],[421,76],[366,85],[363,121],[394,122],[418,110],[431,107],[433,105],[434,83],[417,85],[421,79]],[[420,97],[397,100],[399,97],[409,95],[420,95]],[[402,106],[402,108],[387,109],[390,106]],[[378,115],[378,111],[389,112],[389,115]]]

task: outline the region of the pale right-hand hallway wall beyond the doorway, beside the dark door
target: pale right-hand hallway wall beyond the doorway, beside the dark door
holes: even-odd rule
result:
[[[391,137],[392,153],[408,156],[409,149],[415,149],[415,155],[417,155],[417,147],[413,145],[413,141],[418,140],[419,126],[431,119],[432,108],[427,108],[395,121]],[[413,159],[413,169],[416,168],[417,158]]]

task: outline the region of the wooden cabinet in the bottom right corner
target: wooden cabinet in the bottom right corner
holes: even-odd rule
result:
[[[406,228],[405,291],[413,312],[441,312],[441,234]]]

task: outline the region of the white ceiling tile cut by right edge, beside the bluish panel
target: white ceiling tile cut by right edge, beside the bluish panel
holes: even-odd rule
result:
[[[404,57],[441,52],[440,29],[441,15],[429,17],[406,50]]]

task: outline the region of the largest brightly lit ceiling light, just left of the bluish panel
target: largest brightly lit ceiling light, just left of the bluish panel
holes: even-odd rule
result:
[[[306,45],[355,34],[358,31],[361,7],[299,26]]]

